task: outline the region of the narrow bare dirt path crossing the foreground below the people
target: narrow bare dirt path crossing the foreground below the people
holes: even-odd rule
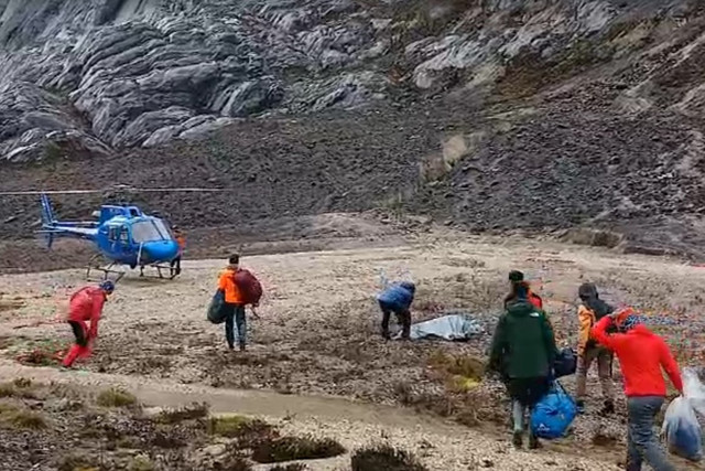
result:
[[[348,450],[387,441],[421,453],[431,469],[447,469],[452,465],[452,469],[498,467],[502,470],[521,470],[525,469],[527,463],[533,463],[532,469],[549,467],[588,470],[596,464],[608,470],[618,469],[614,465],[615,457],[566,457],[565,449],[560,446],[541,453],[517,451],[496,429],[471,430],[438,418],[414,414],[410,409],[343,398],[218,389],[169,381],[135,382],[134,377],[124,375],[62,372],[51,367],[0,362],[0,382],[18,377],[36,383],[70,384],[95,392],[118,387],[134,394],[148,408],[177,408],[205,402],[209,404],[214,415],[262,417],[281,424],[285,432],[335,438]],[[315,470],[338,470],[348,461],[349,456],[344,456],[318,460],[310,465]]]

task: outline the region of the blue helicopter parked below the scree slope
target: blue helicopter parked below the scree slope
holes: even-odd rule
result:
[[[124,185],[117,190],[132,192],[212,192],[219,189],[141,189],[130,190]],[[72,237],[90,240],[95,244],[96,254],[87,266],[86,278],[91,279],[91,270],[102,272],[102,279],[117,275],[117,279],[124,276],[124,271],[115,267],[128,266],[131,269],[140,267],[140,276],[144,276],[145,267],[156,268],[159,278],[164,278],[163,270],[167,270],[167,278],[173,279],[180,269],[173,267],[172,261],[178,256],[178,243],[174,238],[169,225],[161,217],[147,215],[138,206],[131,204],[102,205],[94,212],[98,221],[65,222],[57,221],[48,199],[50,193],[83,194],[101,193],[95,190],[74,191],[26,191],[6,192],[2,194],[29,195],[39,194],[42,204],[42,228],[37,233],[44,236],[47,248],[56,238]]]

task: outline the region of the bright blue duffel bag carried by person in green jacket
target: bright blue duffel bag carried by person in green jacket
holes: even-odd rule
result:
[[[577,415],[575,400],[557,381],[531,413],[531,431],[539,438],[553,440],[565,436]]]

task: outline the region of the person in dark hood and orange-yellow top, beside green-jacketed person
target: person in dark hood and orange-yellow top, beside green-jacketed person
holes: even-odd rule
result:
[[[597,343],[590,336],[593,327],[605,315],[611,314],[615,309],[599,299],[597,288],[590,282],[581,285],[578,288],[581,306],[577,309],[579,322],[578,344],[577,344],[577,390],[576,400],[578,413],[585,411],[585,393],[587,389],[587,372],[593,362],[597,362],[597,375],[603,388],[604,406],[600,415],[615,413],[615,398],[612,390],[612,353],[605,346]],[[610,330],[614,333],[615,330]]]

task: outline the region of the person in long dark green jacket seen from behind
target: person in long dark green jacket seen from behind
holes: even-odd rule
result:
[[[531,303],[524,286],[513,289],[513,300],[495,331],[489,370],[501,375],[512,399],[512,442],[521,448],[524,415],[530,416],[551,388],[556,346],[545,313]],[[530,433],[529,448],[539,447],[538,438]]]

